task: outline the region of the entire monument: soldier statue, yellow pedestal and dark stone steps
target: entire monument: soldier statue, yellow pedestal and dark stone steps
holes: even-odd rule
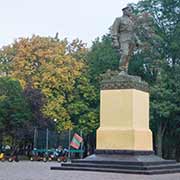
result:
[[[141,45],[135,31],[138,18],[131,7],[122,10],[123,16],[116,18],[111,27],[113,46],[121,56],[119,71],[108,70],[103,75],[95,154],[51,169],[136,174],[180,172],[176,161],[154,155],[148,84],[128,74],[130,57]]]

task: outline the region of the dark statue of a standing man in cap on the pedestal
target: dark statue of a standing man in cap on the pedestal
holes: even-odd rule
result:
[[[113,41],[113,47],[118,50],[121,55],[119,62],[120,71],[127,73],[129,59],[135,48],[140,47],[141,41],[137,36],[138,23],[147,23],[148,14],[143,14],[143,16],[133,15],[133,9],[131,6],[127,6],[122,9],[123,16],[115,19],[113,25],[111,26],[111,36]],[[147,26],[146,26],[147,28]]]

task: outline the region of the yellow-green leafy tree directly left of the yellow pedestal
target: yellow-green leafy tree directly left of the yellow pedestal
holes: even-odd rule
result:
[[[96,103],[95,87],[90,85],[87,73],[84,73],[77,80],[71,103],[67,106],[72,122],[84,135],[94,132],[99,125]]]

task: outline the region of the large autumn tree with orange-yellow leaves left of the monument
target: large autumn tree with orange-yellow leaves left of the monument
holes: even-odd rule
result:
[[[1,50],[1,73],[19,79],[23,87],[31,84],[32,88],[39,89],[45,96],[41,109],[44,116],[56,119],[58,130],[68,129],[73,124],[77,125],[69,109],[71,103],[76,104],[74,88],[86,72],[86,52],[85,45],[79,40],[68,43],[66,39],[50,37],[21,38]],[[84,92],[81,90],[78,93],[91,93],[90,89],[89,92],[85,90],[89,87],[86,77],[84,79]],[[84,110],[81,108],[78,111],[82,114]]]

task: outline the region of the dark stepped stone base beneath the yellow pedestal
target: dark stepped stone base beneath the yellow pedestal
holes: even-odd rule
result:
[[[83,160],[73,160],[51,169],[150,175],[180,172],[180,163],[164,160],[153,151],[97,150]]]

